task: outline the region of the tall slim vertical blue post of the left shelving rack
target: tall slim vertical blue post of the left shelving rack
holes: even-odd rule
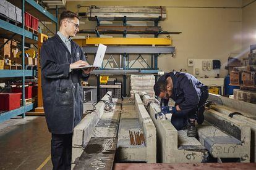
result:
[[[25,118],[25,59],[24,59],[24,45],[25,45],[25,36],[24,36],[24,17],[25,13],[25,0],[22,0],[22,106],[24,111],[22,118]]]

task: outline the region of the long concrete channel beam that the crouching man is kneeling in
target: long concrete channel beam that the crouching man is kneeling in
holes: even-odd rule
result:
[[[150,99],[142,92],[143,102]],[[160,163],[201,163],[208,158],[208,152],[197,139],[187,137],[186,131],[177,131],[166,119],[155,119],[160,111],[158,103],[150,103],[148,111],[156,127],[157,151]]]

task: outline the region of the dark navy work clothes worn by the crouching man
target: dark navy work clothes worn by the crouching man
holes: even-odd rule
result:
[[[179,105],[181,111],[177,111],[171,117],[171,123],[177,130],[184,129],[189,119],[196,119],[198,111],[202,110],[203,104],[208,99],[208,87],[198,81],[189,73],[170,72],[161,76],[158,81],[164,81],[168,77],[173,80],[171,99],[175,106]],[[168,105],[169,99],[162,99],[163,105]]]

